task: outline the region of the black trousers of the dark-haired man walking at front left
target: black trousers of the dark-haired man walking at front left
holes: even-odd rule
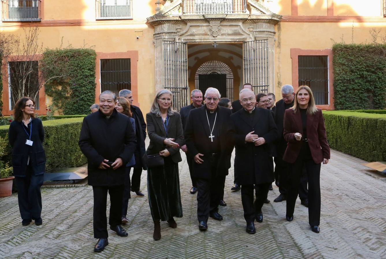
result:
[[[107,192],[110,194],[110,215],[108,224],[117,226],[122,223],[122,199],[124,185],[93,186],[94,193],[94,237],[107,238]]]

